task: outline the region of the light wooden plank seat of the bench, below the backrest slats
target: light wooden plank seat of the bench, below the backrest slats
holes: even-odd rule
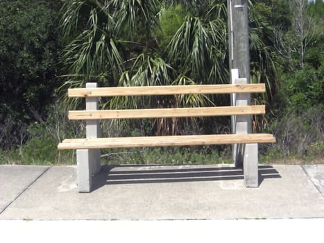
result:
[[[187,146],[265,142],[275,142],[275,137],[271,134],[259,133],[67,139],[58,144],[58,149],[105,149],[142,146]]]

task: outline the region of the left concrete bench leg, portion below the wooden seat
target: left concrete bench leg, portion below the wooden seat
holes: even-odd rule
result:
[[[77,149],[78,192],[91,192],[92,176],[100,171],[99,149]]]

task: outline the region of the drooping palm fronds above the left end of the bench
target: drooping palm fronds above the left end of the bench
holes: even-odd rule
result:
[[[65,0],[60,28],[72,39],[62,56],[67,73],[79,79],[78,85],[98,78],[116,85],[130,43],[140,30],[153,28],[159,6],[158,0]]]

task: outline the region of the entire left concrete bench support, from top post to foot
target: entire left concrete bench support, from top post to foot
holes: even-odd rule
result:
[[[96,87],[96,83],[87,83],[87,88]],[[85,110],[98,110],[98,98],[89,97],[85,99]],[[99,120],[87,120],[87,138],[99,136]],[[92,176],[100,171],[100,149],[77,149],[76,163],[78,167],[78,192],[90,192],[92,187]]]

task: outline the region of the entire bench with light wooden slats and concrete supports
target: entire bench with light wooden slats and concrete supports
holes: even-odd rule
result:
[[[86,121],[87,138],[65,139],[58,149],[77,149],[78,191],[90,192],[92,176],[100,170],[100,149],[235,144],[235,165],[244,167],[246,187],[258,187],[257,144],[275,142],[271,134],[250,133],[251,115],[265,113],[265,106],[250,106],[250,93],[265,92],[264,84],[247,84],[246,78],[235,78],[228,85],[180,85],[149,87],[96,87],[87,83],[85,88],[69,89],[69,97],[85,97],[86,110],[69,111],[69,119]],[[158,108],[137,110],[98,110],[99,97],[178,95],[178,94],[232,94],[232,106],[198,108]],[[210,117],[232,116],[233,134],[174,135],[150,137],[100,137],[101,119],[133,119],[156,117]]]

